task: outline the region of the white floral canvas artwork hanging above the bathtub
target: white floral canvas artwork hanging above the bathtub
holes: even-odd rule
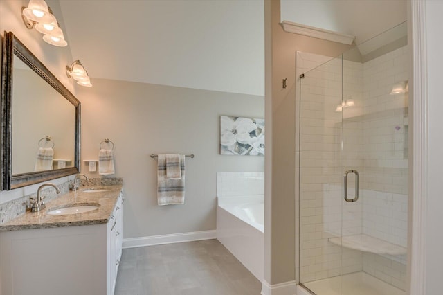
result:
[[[264,155],[264,119],[221,116],[220,154]]]

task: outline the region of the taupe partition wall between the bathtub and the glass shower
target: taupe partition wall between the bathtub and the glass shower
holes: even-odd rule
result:
[[[264,3],[266,145],[272,145],[266,156],[264,279],[274,285],[296,280],[296,51],[336,56],[349,46],[284,33],[280,0]]]

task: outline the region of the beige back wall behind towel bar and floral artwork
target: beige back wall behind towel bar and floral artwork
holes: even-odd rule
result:
[[[215,229],[217,171],[263,171],[264,157],[221,156],[219,117],[264,117],[264,98],[156,84],[93,79],[79,89],[82,160],[97,159],[100,142],[114,142],[116,177],[125,186],[125,238]],[[156,159],[186,158],[184,205],[157,206]],[[82,161],[81,172],[92,177]]]

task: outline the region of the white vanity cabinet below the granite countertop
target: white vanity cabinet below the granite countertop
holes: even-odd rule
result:
[[[102,224],[1,231],[0,295],[114,294],[123,193],[111,216]]]

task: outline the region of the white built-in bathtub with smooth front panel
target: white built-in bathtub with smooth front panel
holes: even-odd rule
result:
[[[260,282],[264,268],[264,197],[217,197],[217,240]]]

